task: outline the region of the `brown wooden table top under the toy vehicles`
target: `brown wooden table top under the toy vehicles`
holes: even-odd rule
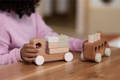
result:
[[[111,57],[101,63],[64,61],[46,63],[43,66],[15,63],[0,67],[0,80],[119,80],[120,49],[113,49]],[[79,53],[76,53],[79,57]]]

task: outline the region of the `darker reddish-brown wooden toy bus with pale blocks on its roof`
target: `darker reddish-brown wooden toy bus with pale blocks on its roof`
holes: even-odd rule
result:
[[[101,39],[101,33],[96,33],[88,36],[88,41],[83,44],[83,53],[81,53],[81,60],[89,60],[100,63],[102,56],[110,56],[111,49],[108,42]]]

